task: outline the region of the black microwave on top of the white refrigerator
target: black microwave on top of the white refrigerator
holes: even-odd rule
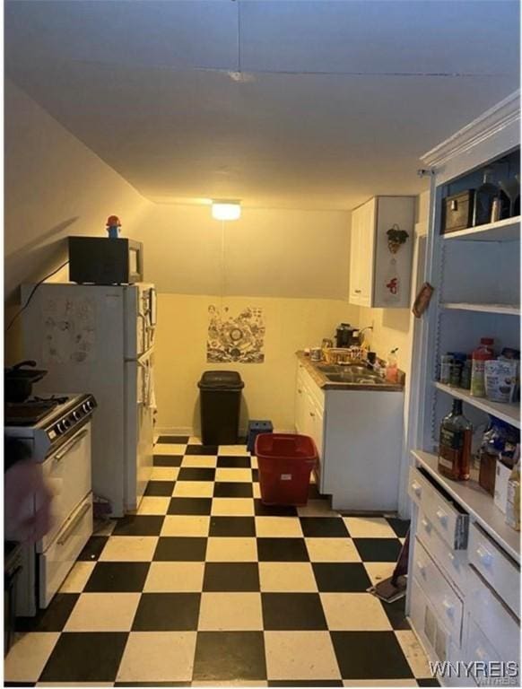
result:
[[[69,237],[73,283],[132,284],[144,281],[144,245],[109,237]]]

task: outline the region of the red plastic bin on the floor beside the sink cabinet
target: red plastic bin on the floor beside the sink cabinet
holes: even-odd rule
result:
[[[315,442],[308,435],[260,433],[254,452],[261,501],[265,505],[306,505],[310,473],[318,461]]]

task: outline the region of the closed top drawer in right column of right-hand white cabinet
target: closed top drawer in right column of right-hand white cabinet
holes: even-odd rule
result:
[[[469,562],[520,619],[520,568],[482,528],[469,529]]]

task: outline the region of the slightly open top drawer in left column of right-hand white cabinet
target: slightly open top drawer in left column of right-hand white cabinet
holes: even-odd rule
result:
[[[451,548],[466,549],[469,515],[435,479],[411,467],[408,493]]]

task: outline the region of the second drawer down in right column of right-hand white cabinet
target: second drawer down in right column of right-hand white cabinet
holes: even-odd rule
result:
[[[470,564],[466,606],[477,626],[487,630],[492,648],[503,660],[517,660],[519,656],[520,625],[518,619],[500,600],[490,585]]]

